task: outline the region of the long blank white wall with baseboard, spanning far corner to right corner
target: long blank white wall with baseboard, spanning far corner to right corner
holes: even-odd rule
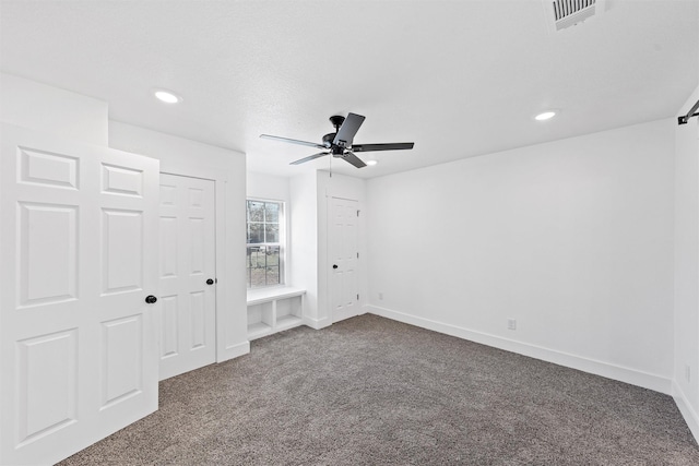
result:
[[[369,311],[670,393],[673,124],[369,180]]]

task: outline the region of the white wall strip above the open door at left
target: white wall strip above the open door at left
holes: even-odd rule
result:
[[[0,121],[107,145],[106,101],[0,73]]]

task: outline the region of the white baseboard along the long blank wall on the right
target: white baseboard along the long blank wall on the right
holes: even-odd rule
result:
[[[595,375],[605,377],[607,379],[617,380],[619,382],[629,383],[631,385],[642,386],[643,389],[653,390],[655,392],[670,395],[672,393],[672,381],[661,375],[655,375],[642,371],[638,371],[621,366],[612,365],[604,361],[584,358],[568,353],[557,351],[555,349],[544,348],[528,343],[516,342],[513,339],[503,338],[501,336],[490,335],[483,332],[476,332],[469,328],[459,327],[429,319],[418,318],[391,309],[379,308],[377,306],[367,306],[367,311],[380,315],[382,318],[392,319],[394,321],[404,322],[423,328],[479,343],[495,348],[505,349],[507,351],[517,353],[519,355],[529,356],[531,358],[541,359],[543,361],[553,362],[555,365],[565,366]]]

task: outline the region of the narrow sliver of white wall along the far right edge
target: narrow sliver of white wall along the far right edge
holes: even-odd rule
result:
[[[678,116],[686,115],[697,100],[699,87]],[[699,118],[675,123],[675,154],[674,395],[699,439]]]

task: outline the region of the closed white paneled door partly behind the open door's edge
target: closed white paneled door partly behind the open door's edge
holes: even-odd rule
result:
[[[161,175],[161,380],[216,360],[214,188]]]

